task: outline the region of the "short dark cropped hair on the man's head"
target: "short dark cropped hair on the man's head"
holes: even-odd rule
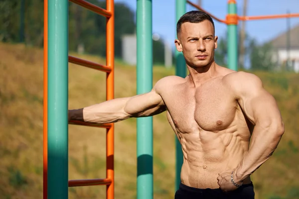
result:
[[[186,12],[184,15],[182,15],[179,20],[176,23],[176,34],[178,35],[181,31],[181,25],[185,22],[190,23],[199,23],[204,20],[209,20],[213,24],[213,28],[215,30],[215,25],[212,17],[208,15],[207,13],[199,10],[192,10],[189,12]]]

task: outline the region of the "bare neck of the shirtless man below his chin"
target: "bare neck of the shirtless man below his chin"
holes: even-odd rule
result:
[[[187,68],[190,73],[190,82],[194,84],[195,87],[202,85],[206,81],[217,77],[217,64],[212,61],[210,64],[204,67],[190,67]]]

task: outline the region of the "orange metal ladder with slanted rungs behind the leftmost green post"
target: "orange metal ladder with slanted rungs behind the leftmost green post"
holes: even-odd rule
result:
[[[106,100],[114,99],[114,0],[107,0],[107,8],[103,9],[85,0],[69,0],[80,6],[83,6],[97,14],[103,15],[107,19],[106,26],[106,66],[98,63],[90,62],[73,56],[68,56],[70,63],[85,66],[88,68],[96,69],[106,72]],[[47,2],[45,0],[45,2]],[[47,7],[45,6],[44,17],[47,19]],[[47,25],[44,27],[44,48],[47,48]],[[47,65],[47,51],[44,51],[44,67]],[[44,81],[47,81],[47,72],[44,70]],[[44,87],[44,99],[47,101],[47,88]],[[44,106],[44,120],[47,120],[47,109]],[[47,198],[47,122],[44,121],[44,141],[43,141],[43,198]],[[87,122],[70,121],[69,124],[96,126],[107,129],[106,133],[106,179],[87,179],[87,180],[69,180],[69,187],[79,186],[107,186],[107,199],[114,199],[114,124],[93,124]]]

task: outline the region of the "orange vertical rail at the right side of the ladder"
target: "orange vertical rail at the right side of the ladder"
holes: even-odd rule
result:
[[[111,72],[107,73],[106,93],[107,100],[114,99],[114,0],[106,1],[107,10],[112,13],[110,18],[107,18],[106,24],[106,60],[107,66],[111,68]],[[114,199],[114,124],[107,129],[106,135],[106,176],[111,179],[110,185],[107,185],[106,199]]]

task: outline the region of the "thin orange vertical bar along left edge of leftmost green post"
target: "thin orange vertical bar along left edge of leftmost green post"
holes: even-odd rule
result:
[[[44,0],[43,199],[48,197],[48,0]]]

